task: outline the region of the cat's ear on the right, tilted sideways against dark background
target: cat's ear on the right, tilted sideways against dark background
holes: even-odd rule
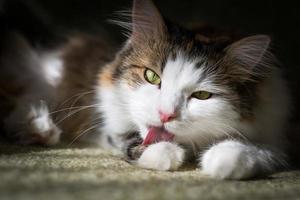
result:
[[[268,71],[271,39],[267,35],[255,35],[241,39],[226,48],[226,61],[234,67],[236,76],[256,75]]]

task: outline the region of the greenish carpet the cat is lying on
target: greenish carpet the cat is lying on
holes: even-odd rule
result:
[[[136,168],[98,148],[0,146],[0,199],[300,199],[300,171],[217,181],[198,169]]]

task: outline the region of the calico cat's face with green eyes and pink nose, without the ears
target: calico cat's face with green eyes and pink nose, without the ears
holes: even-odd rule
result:
[[[153,42],[152,48],[135,47],[123,61],[122,96],[141,136],[151,127],[164,127],[180,141],[233,132],[239,97],[213,70],[218,56],[206,55],[193,40]]]

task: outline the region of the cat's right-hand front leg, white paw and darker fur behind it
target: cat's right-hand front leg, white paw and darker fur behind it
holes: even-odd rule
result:
[[[212,146],[200,158],[203,172],[218,179],[239,180],[268,175],[284,163],[282,154],[232,140]]]

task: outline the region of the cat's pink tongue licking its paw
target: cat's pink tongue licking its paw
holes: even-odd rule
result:
[[[166,131],[163,128],[151,127],[143,142],[143,145],[149,145],[161,141],[173,141],[174,134]]]

